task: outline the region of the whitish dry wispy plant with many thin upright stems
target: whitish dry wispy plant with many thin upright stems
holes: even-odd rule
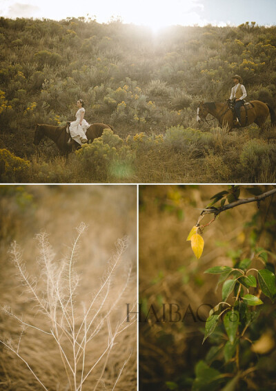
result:
[[[132,279],[131,262],[122,261],[128,247],[128,238],[124,237],[117,241],[99,286],[90,293],[88,300],[84,300],[82,293],[79,292],[81,278],[76,265],[81,255],[81,237],[85,230],[86,225],[81,223],[77,227],[77,235],[68,254],[59,260],[56,259],[49,243],[48,234],[41,232],[37,235],[39,278],[29,274],[16,242],[12,243],[10,249],[17,275],[24,287],[24,294],[28,293],[34,313],[32,322],[26,321],[24,314],[17,314],[10,305],[1,306],[1,311],[6,316],[19,323],[20,331],[17,335],[9,335],[6,332],[0,342],[8,352],[12,352],[26,365],[36,379],[37,386],[40,384],[44,390],[54,389],[53,385],[50,385],[51,381],[56,383],[57,390],[105,390],[107,384],[108,390],[119,389],[121,372],[130,359],[131,353],[126,360],[121,360],[120,367],[114,368],[110,379],[103,381],[106,378],[110,353],[116,350],[117,339],[120,334],[126,335],[126,330],[134,323],[127,323],[124,316],[118,316],[116,313]],[[46,374],[43,374],[44,360],[34,363],[30,352],[26,353],[24,345],[21,348],[22,341],[28,338],[28,345],[32,347],[35,347],[36,341],[46,343],[39,344],[39,348],[44,352],[44,360],[49,357],[48,354],[60,355],[63,367],[63,374],[60,377],[64,382],[62,388],[53,374],[50,376],[51,381],[48,380],[46,374],[49,368],[46,368],[46,365]],[[47,348],[52,342],[55,343],[55,352],[50,350],[47,354]],[[87,388],[86,383],[91,378],[92,381]]]

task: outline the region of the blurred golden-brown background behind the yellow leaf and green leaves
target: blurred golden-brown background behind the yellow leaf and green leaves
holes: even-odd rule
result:
[[[241,186],[241,198],[250,197],[244,189],[246,187],[252,186]],[[266,199],[260,203],[259,209],[257,203],[248,203],[221,213],[204,229],[204,251],[201,258],[196,259],[186,238],[197,223],[200,208],[206,208],[210,197],[227,188],[225,185],[139,188],[141,391],[192,389],[195,364],[204,359],[210,349],[208,341],[202,345],[205,320],[210,310],[208,305],[214,306],[221,301],[221,285],[215,290],[217,276],[204,274],[204,270],[215,265],[233,267],[234,260],[250,256],[252,242],[256,240],[256,246],[275,251],[275,199]],[[271,186],[259,188],[266,191]],[[207,215],[201,223],[208,223],[210,219],[211,216]],[[275,264],[273,257],[271,262]],[[257,267],[260,267],[259,263]],[[162,321],[164,304],[165,322]],[[156,314],[150,310],[150,305],[154,306]],[[270,319],[266,327],[273,328],[273,324]]]

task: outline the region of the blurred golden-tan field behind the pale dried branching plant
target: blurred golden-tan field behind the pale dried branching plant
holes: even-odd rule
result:
[[[38,311],[28,298],[26,287],[17,279],[16,269],[8,254],[10,243],[16,240],[23,249],[28,274],[42,283],[41,266],[37,263],[39,249],[35,234],[45,231],[55,251],[55,263],[68,254],[68,249],[76,237],[75,228],[83,221],[88,228],[84,232],[77,251],[75,268],[80,281],[75,302],[77,323],[81,315],[81,302],[88,305],[92,294],[101,286],[102,277],[108,269],[108,259],[115,251],[117,239],[126,235],[129,245],[121,257],[103,315],[124,288],[128,265],[132,265],[130,281],[115,310],[110,314],[110,327],[115,332],[117,323],[126,317],[126,303],[135,303],[136,298],[136,186],[1,186],[0,188],[0,304],[10,305],[14,314],[30,324],[39,325],[44,330],[50,328],[47,318]],[[17,321],[0,313],[1,339],[12,338],[17,345],[20,325]],[[126,328],[115,339],[110,354],[95,366],[82,390],[112,390],[124,362],[124,370],[115,390],[136,390],[137,367],[136,325]],[[85,369],[93,365],[104,347],[108,344],[108,325],[92,339],[86,350]],[[59,349],[51,336],[27,328],[20,343],[19,352],[46,388],[70,390],[63,369]],[[131,356],[130,356],[131,354]],[[42,390],[27,366],[7,348],[0,344],[0,389],[1,390]],[[107,361],[106,361],[107,360]],[[106,361],[106,365],[105,365]],[[98,382],[98,380],[100,381]],[[96,386],[97,385],[97,386]]]

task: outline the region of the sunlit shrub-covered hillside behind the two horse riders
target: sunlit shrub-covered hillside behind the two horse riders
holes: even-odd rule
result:
[[[33,163],[35,155],[49,164],[48,159],[51,162],[57,156],[57,148],[52,142],[46,142],[36,150],[32,144],[34,126],[36,123],[62,126],[74,120],[75,103],[81,98],[86,102],[86,119],[90,123],[110,123],[126,144],[130,135],[125,147],[135,155],[130,165],[132,170],[127,170],[132,174],[124,178],[108,174],[101,181],[212,181],[208,171],[213,171],[212,164],[217,166],[217,162],[212,161],[210,165],[206,157],[216,155],[225,164],[226,155],[235,150],[237,156],[230,155],[227,161],[233,159],[237,163],[238,159],[244,164],[242,154],[248,149],[273,157],[275,146],[271,140],[275,134],[269,129],[261,134],[257,126],[251,126],[231,135],[217,130],[216,121],[211,131],[210,126],[199,129],[195,117],[199,101],[224,101],[229,97],[233,74],[243,77],[248,100],[259,99],[275,108],[275,32],[275,26],[265,28],[254,22],[237,28],[174,26],[154,34],[150,29],[120,21],[99,24],[84,18],[63,21],[1,18],[0,148],[12,152],[11,159],[21,157]],[[177,126],[183,128],[173,131],[172,127]],[[187,128],[192,128],[195,134],[192,140],[186,134]],[[229,144],[227,150],[218,151],[215,146],[202,148],[206,141],[199,140],[200,134],[203,137],[208,134],[209,139],[213,134],[217,140],[218,133],[222,139],[227,137],[223,141],[224,145]],[[169,156],[153,150],[155,144],[161,143],[158,135],[162,144],[166,143],[164,150],[170,150]],[[148,157],[143,148],[139,160],[141,151],[130,145],[137,137],[150,138],[150,148],[156,155],[152,160],[160,157],[161,171],[156,172],[157,167],[152,166],[146,176],[141,176],[145,172],[142,162]],[[168,142],[174,138],[181,139],[186,149],[175,150],[173,140]],[[178,141],[176,144],[179,146]],[[189,161],[195,159],[193,168],[198,159],[203,159],[200,162],[203,175],[199,175],[198,168],[192,177],[190,170],[189,175],[184,172],[187,156]],[[43,180],[43,174],[39,179],[34,170],[23,178],[11,177],[3,168],[5,159],[2,154],[2,182],[48,181]],[[271,159],[263,168],[268,172],[268,177],[263,179],[275,177],[272,171],[275,162]],[[174,161],[180,162],[181,173],[176,177],[172,169]],[[258,173],[246,178],[244,168],[239,177],[235,177],[235,168],[228,167],[228,170],[229,174],[217,180],[261,180]],[[56,177],[51,181],[67,181],[65,177]],[[78,175],[72,181],[79,181]]]

